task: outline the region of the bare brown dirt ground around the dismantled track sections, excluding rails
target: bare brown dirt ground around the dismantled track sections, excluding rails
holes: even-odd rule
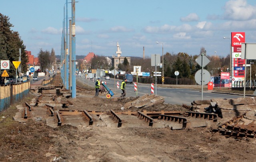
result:
[[[88,88],[89,89],[89,88]],[[135,98],[122,100],[94,97],[95,91],[80,90],[76,99],[62,98],[73,104],[65,110],[122,111]],[[103,94],[100,94],[103,96]],[[18,104],[25,106],[36,95]],[[226,138],[209,127],[171,130],[166,128],[117,128],[71,126],[52,128],[38,118],[16,122],[16,106],[0,112],[1,162],[254,162],[254,138]],[[139,110],[136,108],[132,111]],[[143,110],[174,111],[180,105],[161,104]],[[216,122],[216,126],[224,122]]]

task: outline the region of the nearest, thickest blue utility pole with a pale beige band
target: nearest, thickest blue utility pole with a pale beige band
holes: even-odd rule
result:
[[[72,91],[71,97],[76,98],[76,2],[72,0]]]

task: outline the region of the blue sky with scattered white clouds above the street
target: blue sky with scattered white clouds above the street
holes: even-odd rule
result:
[[[71,2],[71,0],[68,0]],[[26,50],[40,48],[60,55],[66,0],[1,0]],[[66,5],[65,5],[66,7]],[[65,10],[66,11],[66,10]],[[71,18],[71,3],[68,3]],[[66,15],[65,15],[66,18]],[[112,56],[118,42],[121,56],[186,52],[227,56],[231,32],[245,32],[256,42],[255,0],[79,0],[76,3],[76,55]]]

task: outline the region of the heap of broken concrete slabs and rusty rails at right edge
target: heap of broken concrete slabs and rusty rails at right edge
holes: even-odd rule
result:
[[[223,124],[217,128],[211,127],[212,132],[234,138],[256,137],[256,97],[211,99],[194,101],[191,104],[191,107],[184,104],[183,107],[194,112],[215,113],[224,118]]]

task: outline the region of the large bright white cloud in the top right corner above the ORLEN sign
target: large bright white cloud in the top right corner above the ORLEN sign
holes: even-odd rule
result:
[[[256,17],[256,7],[247,4],[246,0],[230,0],[226,2],[225,19],[231,20],[249,20]]]

